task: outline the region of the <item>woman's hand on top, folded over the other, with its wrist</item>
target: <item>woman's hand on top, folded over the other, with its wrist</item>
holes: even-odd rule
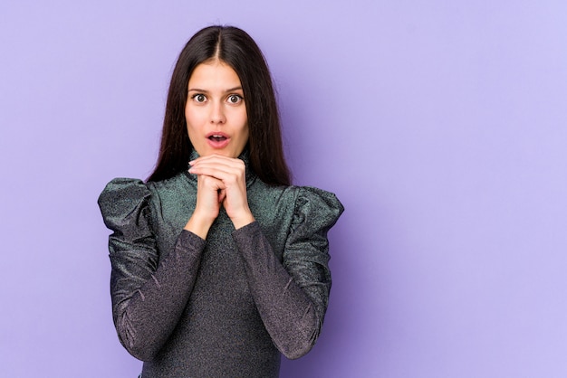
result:
[[[191,165],[190,174],[208,175],[222,182],[218,201],[223,203],[226,214],[235,225],[236,230],[255,221],[248,207],[246,167],[242,160],[221,155],[209,155],[198,157],[189,162],[189,165]]]

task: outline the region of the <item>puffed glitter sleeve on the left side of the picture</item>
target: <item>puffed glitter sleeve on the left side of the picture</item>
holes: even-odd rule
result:
[[[120,343],[142,361],[159,352],[178,323],[197,277],[205,241],[182,231],[173,250],[159,258],[151,224],[149,188],[118,178],[99,197],[102,218],[112,231],[112,317]]]

